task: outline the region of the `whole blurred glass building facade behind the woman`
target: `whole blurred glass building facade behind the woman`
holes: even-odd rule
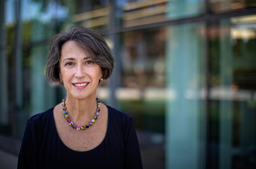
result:
[[[133,116],[145,169],[256,168],[256,0],[0,0],[0,168],[66,95],[44,69],[72,25],[111,47],[97,95]]]

